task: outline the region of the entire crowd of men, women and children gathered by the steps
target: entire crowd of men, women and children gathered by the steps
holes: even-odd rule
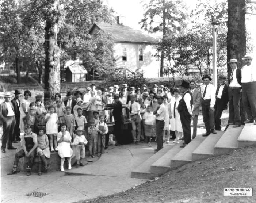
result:
[[[226,77],[218,77],[218,87],[211,84],[211,77],[202,77],[203,87],[196,88],[195,81],[183,81],[179,88],[168,88],[163,85],[148,88],[128,87],[127,84],[100,88],[96,85],[80,91],[67,92],[64,102],[61,94],[56,93],[53,102],[42,103],[40,98],[30,100],[30,91],[24,91],[24,99],[19,100],[21,92],[15,90],[14,99],[5,95],[0,104],[0,118],[3,120],[1,152],[16,149],[12,142],[21,142],[22,149],[15,154],[13,169],[9,175],[17,172],[19,158],[28,157],[27,174],[30,175],[34,156],[39,157],[39,171],[42,164],[47,170],[47,158],[50,152],[58,152],[61,157],[61,171],[67,158],[71,169],[73,151],[76,156],[76,167],[83,166],[81,159],[88,149],[89,156],[101,156],[108,146],[109,129],[107,123],[114,122],[116,145],[124,143],[123,125],[125,120],[131,122],[133,143],[146,141],[149,146],[156,141],[159,151],[163,142],[170,142],[170,131],[174,132],[173,143],[184,140],[180,147],[185,147],[197,134],[199,108],[202,107],[203,122],[206,133],[216,134],[221,130],[222,111],[229,103],[229,125],[239,127],[240,95],[248,119],[245,123],[256,121],[256,68],[251,65],[252,57],[246,55],[246,65],[237,69],[239,62],[231,59],[228,64],[232,72]],[[193,132],[191,136],[191,120]],[[256,124],[256,122],[254,123]]]

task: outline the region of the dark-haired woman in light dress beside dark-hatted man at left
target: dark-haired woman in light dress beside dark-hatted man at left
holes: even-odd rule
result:
[[[20,102],[20,132],[24,133],[24,121],[23,118],[27,115],[27,112],[29,110],[29,104],[30,104],[30,97],[31,92],[29,90],[24,91],[24,99]]]

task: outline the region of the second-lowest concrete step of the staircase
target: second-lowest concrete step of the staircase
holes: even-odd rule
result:
[[[176,145],[173,145],[168,152],[166,152],[162,157],[155,161],[150,166],[150,172],[153,174],[161,175],[168,171],[171,168],[171,159],[179,153],[183,148],[180,148],[183,142],[180,142]]]

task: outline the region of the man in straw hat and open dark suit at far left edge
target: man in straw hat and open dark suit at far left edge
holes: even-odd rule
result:
[[[4,95],[4,102],[0,104],[0,119],[3,121],[3,135],[1,151],[5,153],[7,149],[17,149],[12,146],[12,134],[15,126],[14,107],[10,102],[11,95]]]

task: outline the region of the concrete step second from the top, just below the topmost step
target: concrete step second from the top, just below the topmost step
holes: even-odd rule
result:
[[[226,154],[232,152],[233,149],[237,149],[237,139],[241,134],[243,128],[244,126],[233,128],[233,125],[230,125],[214,146],[214,154]]]

